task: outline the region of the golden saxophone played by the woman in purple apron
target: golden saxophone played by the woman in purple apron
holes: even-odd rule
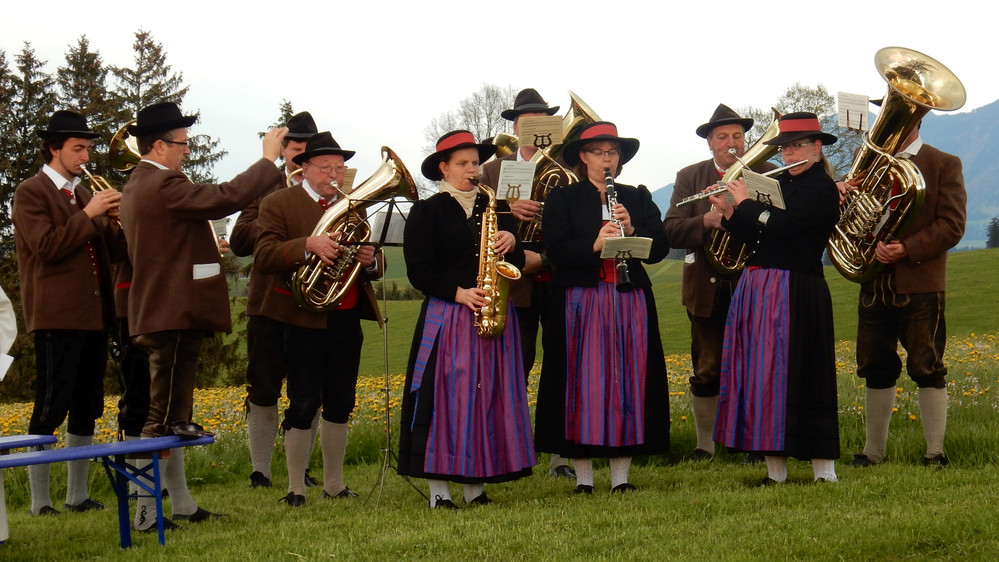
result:
[[[479,275],[475,286],[486,292],[486,305],[475,311],[475,328],[484,338],[503,333],[506,327],[507,296],[510,281],[520,279],[517,266],[503,260],[502,254],[493,251],[493,237],[499,232],[496,217],[496,192],[472,178],[472,183],[489,197],[489,204],[482,213],[482,233],[479,236]]]

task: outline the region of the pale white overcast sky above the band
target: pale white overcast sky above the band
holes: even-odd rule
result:
[[[259,158],[256,133],[285,99],[357,151],[360,180],[382,145],[419,174],[424,127],[483,83],[534,87],[563,111],[572,90],[641,140],[621,181],[655,189],[708,157],[694,129],[720,102],[769,107],[795,82],[881,97],[881,47],[947,65],[968,91],[961,111],[999,98],[983,3],[540,1],[519,4],[523,16],[497,8],[514,3],[470,1],[8,4],[0,49],[11,65],[29,41],[54,72],[86,33],[106,64],[127,66],[135,31],[149,31],[190,86],[183,109],[201,112],[192,134],[229,151],[221,179]]]

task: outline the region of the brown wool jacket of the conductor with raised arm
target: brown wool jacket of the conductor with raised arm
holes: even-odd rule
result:
[[[139,163],[122,203],[133,269],[128,295],[133,336],[232,330],[228,287],[208,221],[239,211],[280,177],[277,166],[263,158],[217,185],[196,184],[181,172]]]

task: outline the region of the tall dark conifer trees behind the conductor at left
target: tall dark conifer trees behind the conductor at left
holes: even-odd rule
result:
[[[24,333],[21,314],[17,256],[11,222],[14,190],[41,169],[41,139],[35,134],[44,128],[52,113],[71,109],[84,114],[90,127],[101,134],[91,149],[91,173],[122,186],[125,174],[107,163],[112,136],[134,119],[141,107],[172,101],[183,107],[188,86],[183,75],[166,62],[166,52],[152,35],[141,29],[132,43],[133,60],[122,66],[107,63],[94,50],[86,35],[70,45],[65,60],[50,70],[48,61],[40,60],[29,42],[16,54],[0,50],[0,285],[14,303],[18,316],[18,338],[10,354],[14,365],[0,383],[0,402],[30,400],[35,377],[33,338]],[[124,61],[123,61],[124,62]],[[183,107],[185,113],[196,108]],[[194,181],[215,181],[213,166],[225,156],[218,141],[207,135],[191,137],[191,154],[184,171]],[[235,262],[229,264],[236,272]],[[169,306],[169,303],[164,303]],[[230,338],[232,339],[232,338]],[[206,341],[202,353],[199,385],[230,383],[241,380],[243,373],[236,341],[225,343],[217,337]],[[236,370],[240,372],[236,373]],[[109,363],[109,381],[116,381],[117,368]],[[105,385],[114,390],[117,383]]]

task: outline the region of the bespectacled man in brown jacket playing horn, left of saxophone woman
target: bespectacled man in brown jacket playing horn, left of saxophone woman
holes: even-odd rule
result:
[[[313,135],[305,151],[294,157],[305,181],[265,197],[257,221],[253,267],[270,274],[271,280],[261,311],[278,322],[284,334],[290,404],[282,422],[288,463],[288,495],[283,499],[293,507],[305,504],[304,475],[314,435],[311,426],[320,407],[321,497],[357,496],[343,483],[343,457],[361,360],[361,319],[378,318],[370,284],[378,276],[374,248],[362,245],[357,250],[356,259],[364,271],[329,312],[299,307],[289,285],[292,274],[312,256],[327,265],[340,257],[343,247],[335,240],[339,232],[318,236],[312,232],[338,197],[344,162],[353,155],[354,151],[340,148],[329,132]]]

